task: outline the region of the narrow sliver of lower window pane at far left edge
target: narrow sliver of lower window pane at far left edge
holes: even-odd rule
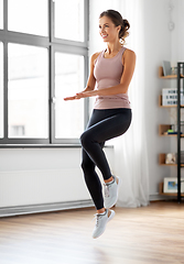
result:
[[[3,46],[0,42],[0,138],[3,138]]]

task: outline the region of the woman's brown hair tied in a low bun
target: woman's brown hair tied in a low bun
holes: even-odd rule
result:
[[[120,42],[125,44],[126,42],[125,38],[129,35],[128,30],[130,29],[128,20],[122,19],[122,15],[118,11],[112,9],[109,9],[100,13],[99,19],[101,19],[105,15],[108,16],[116,26],[121,25],[121,30],[119,31],[119,38]]]

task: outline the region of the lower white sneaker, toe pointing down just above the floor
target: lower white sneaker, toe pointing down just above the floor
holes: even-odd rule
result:
[[[110,212],[110,216],[108,216],[109,215],[108,212]],[[104,215],[96,213],[95,217],[96,217],[96,226],[93,232],[93,238],[97,239],[106,230],[106,224],[115,217],[115,211],[106,210]]]

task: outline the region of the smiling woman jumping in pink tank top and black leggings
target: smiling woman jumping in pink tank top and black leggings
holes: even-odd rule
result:
[[[86,89],[73,97],[64,98],[75,100],[96,96],[91,118],[80,136],[82,168],[97,209],[94,239],[104,233],[107,222],[115,216],[115,211],[109,208],[117,202],[120,185],[120,178],[110,172],[102,147],[107,140],[123,134],[131,123],[128,88],[134,72],[136,54],[123,46],[129,28],[129,22],[115,10],[107,10],[100,14],[99,34],[107,48],[91,56]],[[95,172],[96,166],[104,177],[105,197]]]

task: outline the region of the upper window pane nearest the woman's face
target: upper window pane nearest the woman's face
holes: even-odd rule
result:
[[[55,0],[55,37],[84,42],[84,0]]]

